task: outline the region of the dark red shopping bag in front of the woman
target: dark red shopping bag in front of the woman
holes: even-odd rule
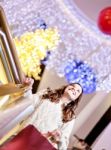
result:
[[[56,150],[52,144],[33,126],[28,125],[0,150]]]

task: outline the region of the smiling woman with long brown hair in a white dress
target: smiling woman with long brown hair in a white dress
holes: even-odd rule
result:
[[[30,84],[30,80],[25,84]],[[66,150],[82,93],[82,87],[74,83],[56,90],[47,88],[37,94],[28,94],[35,112],[26,125],[33,124],[56,148]]]

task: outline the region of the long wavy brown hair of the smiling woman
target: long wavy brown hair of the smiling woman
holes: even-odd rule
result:
[[[74,84],[78,84],[78,83],[74,83]],[[69,85],[73,86],[74,84],[71,83]],[[69,86],[69,85],[67,85],[67,86]],[[58,103],[67,86],[64,86],[64,87],[62,87],[60,89],[56,89],[56,90],[51,90],[50,88],[47,88],[47,93],[42,96],[42,99],[43,100],[50,99],[51,102]],[[83,93],[83,91],[82,91],[82,93]],[[62,108],[63,122],[71,121],[75,117],[74,111],[78,106],[78,103],[81,99],[82,93],[75,101],[71,101],[66,106],[63,105],[63,108]]]

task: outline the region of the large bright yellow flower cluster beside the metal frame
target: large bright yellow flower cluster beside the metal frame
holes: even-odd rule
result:
[[[37,29],[26,32],[21,37],[15,37],[14,42],[24,73],[29,77],[40,79],[40,61],[59,43],[57,28]]]

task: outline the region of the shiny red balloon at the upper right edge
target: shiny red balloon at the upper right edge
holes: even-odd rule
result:
[[[98,27],[103,33],[111,35],[111,6],[100,12]]]

